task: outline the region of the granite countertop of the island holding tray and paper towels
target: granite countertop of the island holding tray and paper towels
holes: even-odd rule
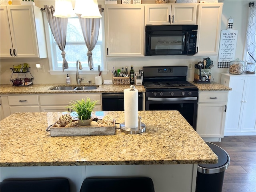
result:
[[[15,113],[0,124],[0,166],[214,164],[218,157],[178,111],[139,111],[146,131],[107,136],[50,136],[61,112]],[[124,122],[124,112],[109,114]],[[163,115],[164,114],[164,115]],[[170,118],[163,118],[170,117]]]

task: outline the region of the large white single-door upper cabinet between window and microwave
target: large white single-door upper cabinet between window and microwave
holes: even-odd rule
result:
[[[107,57],[144,57],[144,5],[106,5]]]

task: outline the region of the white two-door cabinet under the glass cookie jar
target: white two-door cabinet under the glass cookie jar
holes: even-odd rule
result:
[[[232,88],[224,135],[256,135],[256,75],[225,73],[220,83]]]

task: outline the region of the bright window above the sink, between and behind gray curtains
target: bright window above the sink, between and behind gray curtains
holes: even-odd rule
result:
[[[46,19],[46,16],[45,16]],[[62,55],[61,50],[58,48],[54,37],[52,36],[52,32],[50,30],[50,26],[45,20],[46,29],[48,28],[48,55],[49,55],[49,63],[50,63],[50,73],[51,74],[74,74],[76,71],[76,60],[80,60],[82,63],[82,70],[79,70],[81,74],[97,74],[98,73],[98,65],[100,65],[100,69],[104,71],[106,69],[105,62],[105,53],[104,53],[104,26],[102,26],[103,17],[101,19],[100,31],[98,36],[97,44],[92,51],[92,58],[94,64],[94,70],[90,70],[88,67],[88,58],[87,58],[87,47],[84,42],[84,37],[82,34],[81,26],[78,20],[78,17],[68,18],[68,27],[67,27],[67,37],[66,37],[66,60],[68,62],[68,69],[62,72]],[[47,31],[47,30],[46,30]],[[47,36],[46,36],[47,38]],[[70,72],[73,71],[73,72]]]

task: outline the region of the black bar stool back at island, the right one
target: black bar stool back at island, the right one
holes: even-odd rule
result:
[[[151,178],[86,178],[80,192],[154,192]]]

